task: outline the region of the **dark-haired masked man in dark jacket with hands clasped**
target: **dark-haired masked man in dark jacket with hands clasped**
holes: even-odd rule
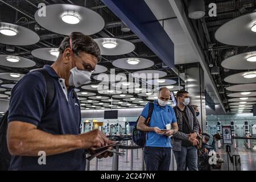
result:
[[[197,149],[196,145],[199,135],[199,122],[196,118],[195,110],[189,106],[189,93],[179,90],[176,93],[177,106],[174,111],[179,126],[179,131],[172,140],[172,150],[174,151],[177,171],[197,171]]]

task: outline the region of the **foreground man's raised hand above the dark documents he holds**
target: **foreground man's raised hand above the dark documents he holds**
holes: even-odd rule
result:
[[[102,146],[106,146],[109,143],[109,140],[106,136],[98,129],[89,131],[85,134],[81,134],[78,136],[82,142],[82,148],[98,148]]]

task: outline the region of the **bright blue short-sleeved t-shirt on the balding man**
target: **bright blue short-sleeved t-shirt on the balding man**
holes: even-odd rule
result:
[[[147,104],[142,110],[141,115],[147,119],[148,116]],[[159,129],[166,129],[167,124],[177,122],[174,109],[171,106],[161,107],[158,105],[157,100],[154,101],[154,110],[150,120],[150,127],[159,127]],[[148,132],[146,135],[146,146],[148,147],[172,147],[171,138],[166,135],[160,135],[154,131]]]

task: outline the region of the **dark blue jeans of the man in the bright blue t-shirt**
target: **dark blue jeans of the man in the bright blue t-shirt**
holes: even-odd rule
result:
[[[147,171],[169,171],[171,148],[144,147],[144,160]]]

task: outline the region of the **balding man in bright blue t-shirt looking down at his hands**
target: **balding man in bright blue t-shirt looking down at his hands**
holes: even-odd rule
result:
[[[147,131],[146,146],[144,147],[147,171],[168,171],[170,168],[172,147],[170,137],[178,131],[174,110],[167,104],[170,96],[170,90],[165,87],[161,88],[158,100],[154,101],[150,125],[145,124],[149,104],[142,110],[137,124],[138,130]]]

